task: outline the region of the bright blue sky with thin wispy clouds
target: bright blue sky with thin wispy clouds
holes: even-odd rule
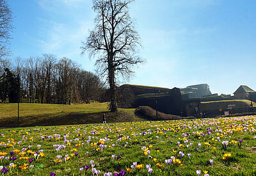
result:
[[[95,72],[81,55],[94,28],[92,0],[9,0],[14,20],[11,58],[44,53],[68,57]],[[124,83],[165,88],[209,84],[212,93],[256,90],[256,1],[136,0],[130,5],[143,65]]]

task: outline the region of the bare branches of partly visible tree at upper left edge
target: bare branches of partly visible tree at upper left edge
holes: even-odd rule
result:
[[[4,56],[10,54],[9,40],[10,32],[13,29],[12,26],[12,11],[8,3],[4,0],[0,0],[0,61]]]

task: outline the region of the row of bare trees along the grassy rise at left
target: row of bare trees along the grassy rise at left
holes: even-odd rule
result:
[[[65,57],[43,54],[26,60],[16,58],[12,63],[0,60],[1,102],[17,102],[19,94],[20,100],[29,103],[90,103],[102,101],[105,92],[98,76]]]

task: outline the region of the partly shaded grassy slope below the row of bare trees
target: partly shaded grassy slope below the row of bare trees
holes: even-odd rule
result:
[[[120,109],[118,113],[108,112],[107,103],[91,104],[20,104],[20,125],[67,125],[102,123],[106,113],[108,122],[141,121],[134,115],[134,109]],[[17,104],[0,104],[0,127],[17,125]]]

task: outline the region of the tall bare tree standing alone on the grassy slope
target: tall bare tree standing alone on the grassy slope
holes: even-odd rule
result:
[[[93,0],[93,10],[97,13],[95,28],[81,47],[82,54],[88,51],[90,58],[97,56],[98,72],[108,77],[111,111],[117,111],[116,78],[129,79],[132,66],[143,62],[138,56],[140,36],[129,15],[132,1]]]

